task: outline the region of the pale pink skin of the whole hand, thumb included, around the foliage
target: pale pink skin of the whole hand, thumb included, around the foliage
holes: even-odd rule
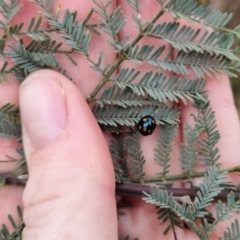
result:
[[[29,22],[38,8],[28,1],[22,1],[25,7],[14,22]],[[159,7],[155,1],[141,1],[141,18],[150,20]],[[128,22],[120,33],[130,39],[137,35],[137,28],[131,21],[132,9],[124,0],[117,1],[127,16]],[[94,6],[92,1],[56,0],[55,7],[77,10],[79,20],[83,20]],[[113,9],[114,4],[110,9]],[[62,11],[63,12],[63,11]],[[62,15],[61,15],[62,16]],[[95,19],[96,20],[96,19]],[[169,15],[162,20],[171,20]],[[46,23],[44,23],[47,26]],[[165,44],[156,39],[146,38],[140,44]],[[113,63],[116,54],[109,47],[106,35],[93,35],[90,55],[97,60],[99,51],[104,52],[104,63]],[[7,214],[16,216],[15,206],[23,206],[24,240],[38,239],[117,239],[130,235],[141,240],[163,239],[166,225],[157,221],[154,206],[141,199],[126,199],[133,204],[125,209],[125,215],[117,221],[115,182],[112,161],[107,143],[89,110],[85,99],[92,92],[101,76],[89,69],[84,56],[75,57],[78,67],[74,67],[64,56],[58,60],[68,70],[76,85],[59,73],[41,70],[30,75],[20,86],[17,80],[0,85],[0,105],[7,102],[20,104],[23,124],[24,149],[29,167],[29,180],[25,189],[21,187],[2,187],[0,191],[0,224],[7,222]],[[151,70],[148,65],[123,63],[123,67]],[[169,75],[169,73],[166,73]],[[206,88],[210,91],[211,106],[216,112],[221,140],[218,147],[221,152],[223,168],[237,165],[240,159],[240,125],[234,106],[229,80],[221,75],[220,79],[208,79]],[[192,122],[193,109],[182,105],[181,124],[174,143],[171,159],[171,174],[181,173],[178,167],[179,145],[183,140],[182,126]],[[157,133],[142,138],[144,154],[147,158],[145,171],[148,176],[156,172],[152,150]],[[14,149],[19,146],[14,140],[0,139],[0,158],[15,156]],[[17,156],[17,155],[16,155]],[[0,164],[0,170],[13,167],[12,163]],[[196,170],[200,170],[196,169]],[[229,180],[237,184],[239,177],[231,175]],[[194,180],[197,184],[199,180]],[[176,183],[184,187],[183,183]],[[223,227],[211,236],[217,239]],[[216,235],[215,235],[216,234]],[[177,229],[179,239],[198,239],[189,229]],[[170,233],[164,239],[173,239]]]

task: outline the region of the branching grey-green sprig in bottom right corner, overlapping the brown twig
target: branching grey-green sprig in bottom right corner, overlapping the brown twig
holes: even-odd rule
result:
[[[219,190],[221,190],[220,188],[218,188],[218,189],[214,188],[214,190],[209,189],[210,191],[203,190],[203,188],[208,189],[210,187],[210,186],[206,185],[207,181],[208,181],[208,183],[210,183],[210,182],[216,183],[217,182],[217,184],[220,184],[223,181],[225,176],[217,173],[216,169],[217,168],[215,168],[215,169],[212,168],[208,171],[208,176],[206,176],[203,181],[204,187],[203,187],[203,185],[200,186],[199,193],[208,191],[208,195],[209,195],[209,192],[211,192],[211,194],[210,194],[211,197],[215,197],[216,194],[219,193]],[[215,174],[215,177],[212,174]],[[209,181],[209,177],[212,178],[210,181]],[[204,197],[204,195],[206,195],[206,192],[203,193],[202,195],[198,193],[197,199],[194,202],[195,207],[200,203],[200,201],[201,201],[201,204],[204,204],[204,206],[202,206],[202,207],[206,207],[208,205],[209,200],[207,200]],[[227,206],[223,205],[223,203],[221,201],[218,202],[218,204],[216,206],[216,209],[217,209],[216,220],[214,220],[214,222],[212,224],[209,224],[207,222],[207,220],[204,218],[203,219],[204,224],[202,225],[202,227],[200,227],[195,223],[194,219],[196,217],[202,218],[205,215],[209,214],[207,211],[205,211],[205,212],[202,211],[201,214],[199,214],[200,213],[198,211],[199,208],[198,209],[195,207],[192,208],[190,205],[186,205],[185,202],[183,202],[183,204],[180,205],[178,202],[176,202],[174,200],[174,197],[172,195],[168,195],[168,193],[166,191],[160,190],[156,187],[151,188],[150,194],[145,193],[145,195],[146,195],[146,197],[143,198],[144,201],[151,203],[151,204],[155,204],[157,207],[160,207],[160,209],[158,211],[158,219],[160,219],[163,222],[170,220],[170,225],[165,229],[165,233],[167,233],[170,228],[172,228],[172,230],[174,230],[174,227],[172,226],[172,224],[174,224],[177,227],[182,228],[181,221],[179,219],[176,219],[176,217],[174,216],[174,214],[176,214],[183,221],[185,221],[186,224],[188,224],[188,226],[199,236],[200,239],[209,239],[208,234],[211,231],[215,230],[214,226],[220,221],[229,219],[231,213],[239,211],[239,208],[240,208],[240,202],[239,202],[239,200],[235,201],[235,195],[232,192],[228,195]],[[199,200],[199,199],[201,199],[201,200]],[[170,219],[170,216],[171,216],[171,219]],[[231,230],[228,229],[228,231],[225,232],[224,239],[238,239],[238,238],[230,238],[230,237],[238,237],[238,234],[239,234],[238,220],[235,220],[234,224],[232,224]],[[226,238],[226,236],[228,236],[228,238]],[[221,239],[221,238],[219,238],[219,239]]]

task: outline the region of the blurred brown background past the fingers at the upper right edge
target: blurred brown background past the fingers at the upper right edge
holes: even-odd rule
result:
[[[211,5],[212,8],[221,12],[233,13],[233,18],[227,25],[228,28],[235,28],[240,25],[240,0],[198,0],[203,5]],[[240,116],[240,75],[231,79],[235,104]]]

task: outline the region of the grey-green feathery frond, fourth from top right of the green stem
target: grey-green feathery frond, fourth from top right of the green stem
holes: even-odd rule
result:
[[[166,103],[168,100],[178,102],[181,99],[186,103],[186,99],[205,100],[203,97],[205,81],[203,79],[189,80],[147,72],[139,82],[133,83],[139,74],[140,72],[134,69],[122,69],[113,81],[120,88],[128,87],[139,96],[148,94],[149,97],[159,102]]]

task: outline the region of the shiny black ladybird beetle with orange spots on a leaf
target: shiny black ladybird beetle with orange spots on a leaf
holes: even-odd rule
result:
[[[156,128],[156,121],[152,116],[145,116],[140,119],[137,125],[138,131],[143,135],[143,136],[148,136],[154,132]]]

